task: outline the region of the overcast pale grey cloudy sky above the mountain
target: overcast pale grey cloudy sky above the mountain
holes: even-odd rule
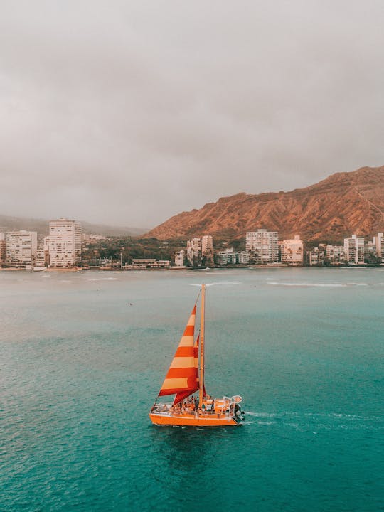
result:
[[[0,0],[0,214],[151,228],[384,164],[383,0]]]

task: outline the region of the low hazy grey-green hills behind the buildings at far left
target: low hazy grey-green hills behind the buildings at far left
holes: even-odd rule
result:
[[[146,231],[145,229],[140,228],[124,228],[102,224],[90,224],[82,222],[81,220],[79,220],[79,222],[82,225],[84,233],[93,233],[94,235],[139,236]],[[11,230],[37,231],[38,235],[46,236],[49,231],[49,220],[0,215],[0,233]]]

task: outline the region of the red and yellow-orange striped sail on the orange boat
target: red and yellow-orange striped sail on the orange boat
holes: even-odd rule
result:
[[[159,396],[176,395],[174,405],[198,390],[198,341],[195,343],[196,304],[169,367]]]

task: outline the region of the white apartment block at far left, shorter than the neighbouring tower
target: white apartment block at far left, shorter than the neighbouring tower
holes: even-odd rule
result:
[[[36,231],[8,231],[5,235],[6,265],[8,267],[33,267],[36,264]]]

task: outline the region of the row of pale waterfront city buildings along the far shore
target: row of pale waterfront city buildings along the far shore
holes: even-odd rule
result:
[[[166,260],[156,257],[129,257],[126,258],[123,267],[123,252],[127,249],[121,244],[121,239],[115,240],[119,247],[119,265],[112,264],[112,256],[96,257],[97,249],[91,243],[97,240],[107,240],[100,235],[86,235],[82,233],[80,223],[76,220],[61,218],[50,220],[49,235],[38,238],[36,231],[14,230],[0,233],[0,270],[1,267],[25,268],[26,270],[46,270],[50,267],[78,268],[78,266],[91,270],[100,267],[116,268],[121,270],[153,270],[155,268],[186,268],[184,257],[191,267],[222,267],[227,265],[276,265],[284,264],[289,266],[340,266],[340,265],[384,265],[384,244],[383,233],[377,233],[372,240],[365,242],[364,237],[356,233],[349,238],[343,239],[341,244],[329,244],[319,242],[316,247],[306,250],[306,241],[300,235],[294,238],[279,240],[277,231],[268,231],[260,228],[257,231],[245,233],[245,251],[233,250],[228,247],[228,242],[219,242],[221,250],[215,250],[213,237],[201,235],[201,238],[186,240],[185,245],[178,242],[178,250],[174,252],[174,265],[171,265],[171,258]],[[111,240],[111,239],[110,239]],[[112,239],[113,240],[113,239]],[[161,242],[164,244],[164,241]],[[82,247],[88,243],[85,260],[82,260]],[[127,244],[129,245],[129,243]],[[166,249],[166,245],[161,249]],[[186,247],[186,250],[181,249]],[[106,250],[105,247],[102,248]],[[117,247],[112,249],[116,257]],[[154,250],[152,248],[152,250]],[[156,252],[156,249],[155,249]],[[136,252],[137,256],[137,252]]]

